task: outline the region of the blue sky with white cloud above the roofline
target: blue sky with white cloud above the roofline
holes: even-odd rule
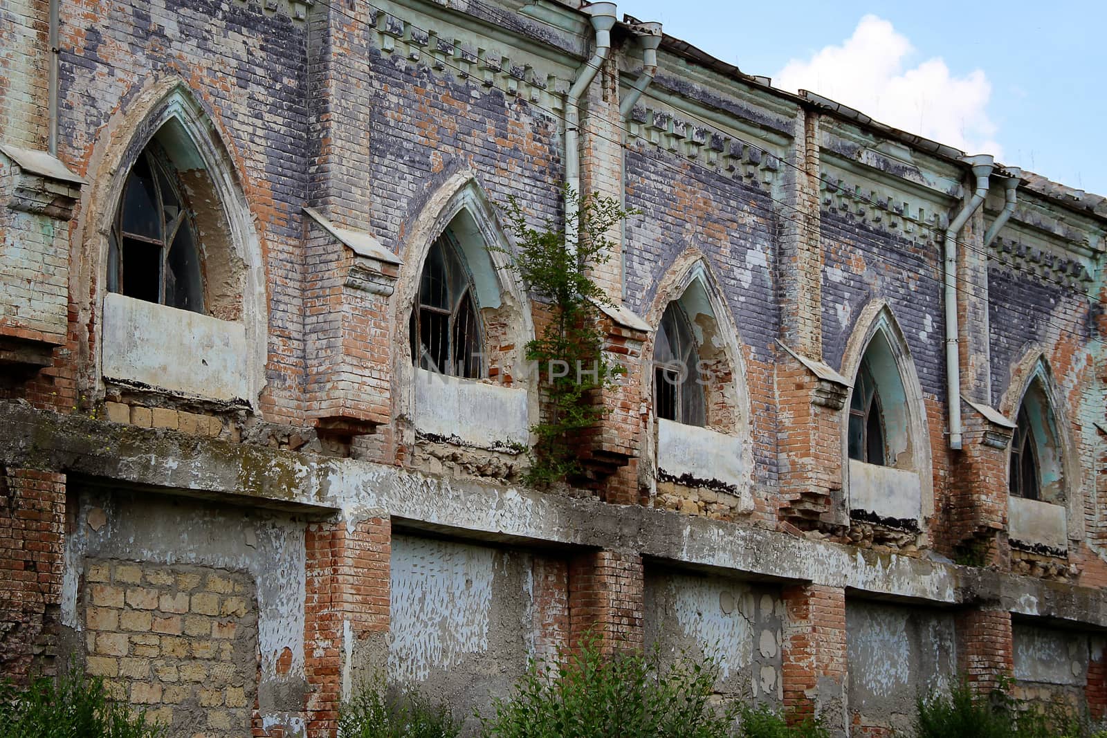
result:
[[[1107,3],[623,0],[748,74],[1107,195]]]

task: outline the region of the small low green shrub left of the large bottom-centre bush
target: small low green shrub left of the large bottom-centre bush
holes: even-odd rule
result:
[[[417,693],[387,696],[383,682],[365,686],[339,710],[342,738],[456,738],[461,725],[444,705]]]

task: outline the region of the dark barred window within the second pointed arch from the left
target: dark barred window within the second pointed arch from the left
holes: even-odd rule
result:
[[[480,322],[473,279],[447,228],[431,246],[411,318],[416,366],[454,376],[483,375]]]

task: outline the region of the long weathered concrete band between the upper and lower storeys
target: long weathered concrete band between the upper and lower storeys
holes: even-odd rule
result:
[[[1002,602],[1026,615],[1107,627],[1107,595],[893,553],[811,541],[762,528],[640,506],[547,495],[479,480],[428,478],[355,459],[244,447],[166,430],[61,416],[6,403],[0,462],[62,464],[70,474],[166,492],[249,501],[350,520],[386,513],[427,530],[520,544],[617,548],[685,567],[744,571],[875,595],[959,604]]]

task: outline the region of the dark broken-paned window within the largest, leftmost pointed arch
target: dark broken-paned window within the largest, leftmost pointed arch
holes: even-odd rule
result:
[[[192,210],[176,170],[156,142],[139,154],[123,188],[108,235],[107,289],[205,312]]]

